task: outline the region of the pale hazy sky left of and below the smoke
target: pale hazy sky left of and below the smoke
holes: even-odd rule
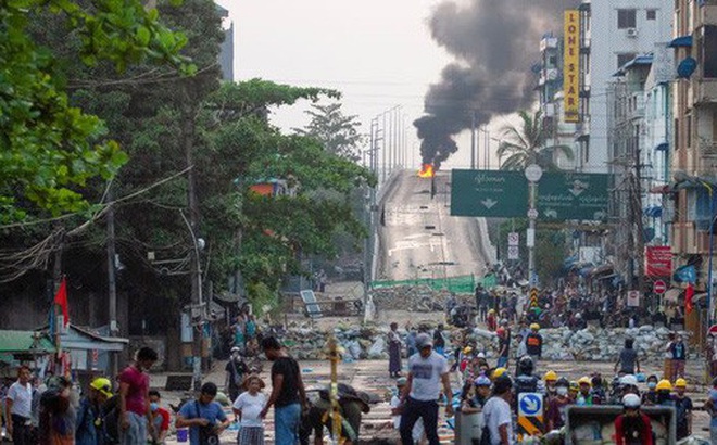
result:
[[[337,89],[343,93],[344,114],[357,115],[366,134],[372,118],[400,105],[407,127],[410,162],[416,167],[420,163],[419,141],[411,123],[423,115],[428,86],[452,61],[431,39],[427,26],[431,11],[440,3],[219,1],[229,10],[235,26],[235,80],[261,77]],[[307,106],[302,103],[278,110],[273,123],[286,130],[303,127],[309,122],[303,113]],[[458,153],[445,168],[469,165],[469,135],[461,135],[457,142]],[[491,162],[498,163],[494,156]]]

